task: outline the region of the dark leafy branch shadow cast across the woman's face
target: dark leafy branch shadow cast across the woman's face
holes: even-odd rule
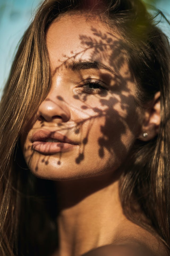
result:
[[[73,66],[73,63],[79,62],[82,63],[83,59],[79,56],[83,56],[87,51],[90,50],[90,62],[99,62],[106,61],[107,65],[114,71],[114,74],[105,74],[103,72],[100,73],[101,81],[106,80],[110,85],[110,90],[105,90],[99,98],[100,106],[91,106],[89,104],[90,94],[80,92],[76,93],[73,98],[75,101],[78,101],[79,104],[82,103],[80,109],[78,110],[80,115],[81,113],[86,113],[86,118],[74,122],[74,125],[70,126],[69,122],[58,122],[58,128],[56,131],[60,131],[64,135],[69,137],[69,134],[74,133],[75,135],[81,135],[81,130],[83,129],[83,125],[88,124],[88,128],[86,131],[86,135],[80,139],[81,141],[81,149],[77,157],[75,158],[75,164],[80,164],[84,161],[84,151],[86,149],[86,145],[88,144],[88,138],[90,134],[90,130],[93,127],[94,122],[97,119],[104,117],[105,123],[100,126],[100,135],[98,138],[98,155],[102,159],[105,157],[105,152],[109,151],[111,154],[116,155],[118,159],[122,158],[122,155],[127,154],[126,146],[122,140],[122,136],[126,135],[127,129],[134,133],[134,123],[130,123],[130,117],[134,113],[131,113],[131,104],[134,104],[135,98],[130,90],[130,83],[134,83],[132,75],[128,69],[124,70],[125,65],[127,63],[125,61],[126,49],[124,46],[123,39],[118,38],[116,35],[112,35],[111,33],[101,33],[101,31],[91,28],[92,36],[87,36],[81,34],[79,36],[81,41],[81,46],[83,50],[79,53],[74,54],[70,53],[70,56],[64,55],[64,61],[61,62],[55,73],[60,72],[63,69],[69,69],[70,63]],[[78,60],[77,60],[78,59]],[[79,73],[81,77],[81,72]],[[83,75],[81,77],[83,80]],[[80,80],[81,80],[80,79]],[[97,97],[96,95],[93,95]],[[56,100],[46,98],[45,101],[52,101],[59,108],[67,105],[68,108],[74,109],[74,106],[71,103],[66,102],[63,95],[56,95]],[[129,104],[129,105],[128,105]],[[119,108],[116,106],[119,105]],[[100,108],[102,106],[102,109]],[[104,109],[104,110],[103,110]],[[88,114],[93,112],[93,114]],[[121,116],[120,112],[124,112],[124,116]],[[41,127],[45,126],[46,121],[41,121]],[[127,127],[128,126],[128,127]],[[97,132],[97,131],[96,131]],[[116,136],[116,140],[115,140]],[[80,138],[80,137],[79,137]],[[110,142],[113,142],[112,144]],[[119,150],[120,149],[120,150]],[[33,154],[33,153],[32,153]],[[32,158],[32,154],[30,154],[30,159]],[[43,162],[45,165],[48,165],[49,156],[44,156]],[[62,161],[62,153],[59,154],[58,157],[58,165],[61,164]],[[38,171],[38,162],[36,171]]]

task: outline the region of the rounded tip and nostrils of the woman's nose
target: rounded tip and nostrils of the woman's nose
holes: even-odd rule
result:
[[[46,98],[39,106],[37,117],[47,122],[56,121],[57,119],[61,119],[61,122],[67,122],[70,119],[70,110],[61,97],[55,100]]]

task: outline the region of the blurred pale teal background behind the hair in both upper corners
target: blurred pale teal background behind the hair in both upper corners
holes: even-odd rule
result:
[[[41,0],[0,0],[0,97],[18,42],[32,21],[40,2]],[[170,20],[170,0],[145,0],[145,2],[163,11]],[[170,38],[170,25],[162,21],[160,26]]]

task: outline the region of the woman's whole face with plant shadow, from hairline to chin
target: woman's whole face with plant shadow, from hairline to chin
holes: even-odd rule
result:
[[[113,173],[142,123],[122,39],[97,19],[65,15],[46,43],[52,85],[21,136],[28,167],[54,180]]]

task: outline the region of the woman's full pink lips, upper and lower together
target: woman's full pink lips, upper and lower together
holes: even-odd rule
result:
[[[55,154],[78,146],[75,142],[57,131],[38,130],[31,136],[32,149],[42,154]]]

